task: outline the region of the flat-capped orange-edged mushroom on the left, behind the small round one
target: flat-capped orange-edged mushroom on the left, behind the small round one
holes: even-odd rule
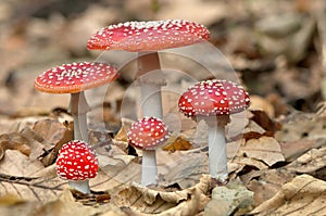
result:
[[[74,137],[88,141],[86,113],[90,110],[84,90],[111,82],[118,77],[117,69],[109,64],[82,62],[63,64],[43,72],[34,87],[48,93],[71,93],[68,106],[74,117]]]

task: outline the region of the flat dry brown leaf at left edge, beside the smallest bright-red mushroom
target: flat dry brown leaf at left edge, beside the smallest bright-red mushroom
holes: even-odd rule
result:
[[[41,162],[29,158],[16,150],[7,150],[0,162],[0,194],[13,194],[28,201],[48,202],[57,198],[63,181],[52,173],[45,173]]]

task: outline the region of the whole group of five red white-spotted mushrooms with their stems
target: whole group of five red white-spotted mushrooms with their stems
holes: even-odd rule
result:
[[[161,87],[165,85],[159,51],[191,46],[210,38],[201,24],[184,20],[126,22],[98,30],[87,42],[88,50],[124,50],[138,53],[136,78],[141,89],[142,118],[127,131],[128,143],[142,150],[141,183],[158,183],[156,149],[168,139],[163,123]],[[152,73],[159,72],[159,73]],[[74,118],[74,140],[64,144],[57,158],[57,173],[70,186],[90,193],[88,179],[98,173],[98,160],[88,142],[87,112],[84,91],[114,81],[117,68],[111,64],[80,62],[63,64],[43,72],[35,88],[48,93],[71,93],[68,111]],[[226,80],[200,81],[180,97],[179,111],[209,125],[209,169],[213,178],[227,178],[225,126],[229,115],[249,106],[243,88]]]

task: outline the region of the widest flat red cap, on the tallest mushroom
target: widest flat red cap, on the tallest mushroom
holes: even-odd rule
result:
[[[155,51],[209,39],[206,27],[185,20],[126,22],[103,27],[87,42],[89,50]]]

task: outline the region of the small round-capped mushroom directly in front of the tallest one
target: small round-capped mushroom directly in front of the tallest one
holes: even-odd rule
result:
[[[155,117],[145,117],[134,123],[127,132],[128,142],[142,149],[141,185],[156,185],[155,149],[168,139],[165,124]]]

